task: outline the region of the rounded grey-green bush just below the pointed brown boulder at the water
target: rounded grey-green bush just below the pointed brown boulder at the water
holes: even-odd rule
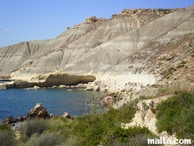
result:
[[[44,119],[33,119],[26,122],[22,127],[21,131],[23,133],[24,139],[30,138],[33,134],[41,134],[43,131],[49,128],[49,124]]]

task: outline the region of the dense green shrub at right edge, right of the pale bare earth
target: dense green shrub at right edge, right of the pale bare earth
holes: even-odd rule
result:
[[[159,132],[194,139],[194,92],[176,91],[175,96],[158,105],[156,118]]]

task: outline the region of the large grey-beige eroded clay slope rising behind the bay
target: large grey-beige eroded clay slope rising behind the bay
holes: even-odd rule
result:
[[[171,79],[176,71],[169,68],[182,61],[192,66],[193,24],[194,6],[124,9],[107,20],[89,17],[54,39],[1,48],[0,74],[31,80],[62,71],[92,75],[109,88],[140,89]]]

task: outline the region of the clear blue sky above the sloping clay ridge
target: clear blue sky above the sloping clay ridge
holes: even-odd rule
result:
[[[111,18],[122,9],[183,8],[194,0],[0,0],[0,47],[55,38],[87,17]]]

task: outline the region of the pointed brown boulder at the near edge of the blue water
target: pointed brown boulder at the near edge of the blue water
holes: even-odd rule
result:
[[[42,106],[41,103],[37,103],[36,106],[30,110],[27,114],[27,119],[31,118],[46,118],[49,117],[47,110]]]

